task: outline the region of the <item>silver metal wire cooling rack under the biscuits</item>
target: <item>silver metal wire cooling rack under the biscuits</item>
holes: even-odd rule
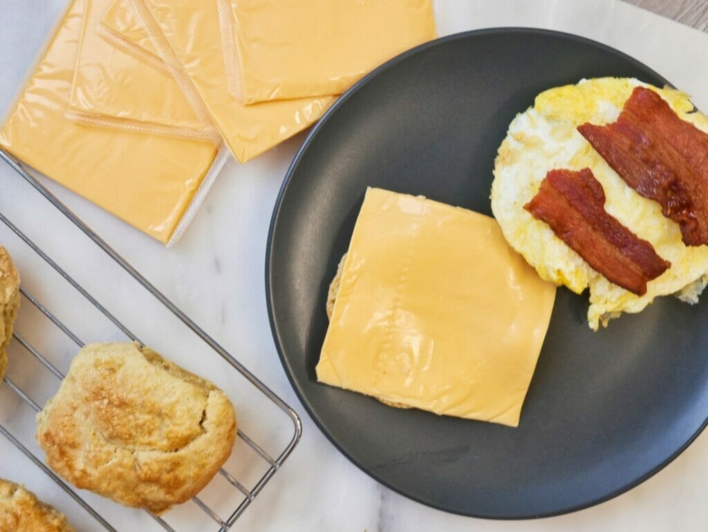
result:
[[[246,486],[246,482],[241,482],[236,477],[232,474],[230,474],[227,470],[222,468],[219,470],[219,475],[223,477],[225,480],[227,480],[228,485],[230,486],[231,489],[236,490],[238,497],[236,498],[236,501],[239,501],[237,503],[237,506],[235,509],[232,511],[231,514],[228,516],[219,516],[217,514],[217,511],[212,509],[209,505],[207,505],[205,502],[202,501],[199,497],[194,497],[193,502],[195,503],[198,508],[203,511],[209,519],[214,521],[216,523],[216,530],[226,532],[229,531],[230,528],[234,525],[236,522],[236,519],[239,519],[239,516],[244,513],[246,508],[253,502],[253,500],[256,498],[258,493],[261,492],[263,487],[268,483],[268,481],[275,475],[275,472],[278,471],[282,463],[285,462],[286,458],[290,455],[292,452],[293,448],[297,445],[297,442],[299,441],[299,438],[302,434],[302,424],[300,423],[299,417],[295,413],[295,411],[290,408],[284,401],[280,399],[275,393],[270,390],[267,386],[265,386],[261,380],[258,380],[253,373],[251,373],[249,370],[247,370],[239,361],[237,361],[233,356],[231,356],[227,351],[222,348],[217,342],[212,339],[207,333],[205,333],[200,327],[198,327],[197,324],[195,324],[189,317],[187,317],[181,310],[176,307],[176,305],[173,305],[173,303],[167,299],[157,288],[154,287],[149,281],[147,281],[146,278],[144,278],[133,266],[131,266],[125,259],[122,258],[113,248],[111,248],[101,237],[98,237],[98,234],[93,232],[91,228],[89,228],[83,221],[79,219],[74,213],[72,213],[69,208],[67,208],[64,203],[62,203],[48,188],[46,188],[38,179],[36,179],[34,176],[32,176],[27,170],[25,170],[25,167],[23,166],[22,162],[18,161],[14,157],[12,157],[10,154],[4,152],[3,150],[0,149],[0,158],[4,159],[4,161],[11,166],[12,169],[14,169],[20,176],[25,179],[33,188],[35,188],[36,191],[38,191],[42,196],[44,196],[49,202],[59,210],[60,213],[62,213],[65,217],[67,217],[76,227],[81,230],[84,234],[86,234],[89,239],[91,239],[98,247],[100,247],[103,251],[105,251],[105,254],[108,254],[111,259],[113,259],[118,265],[123,268],[132,278],[135,279],[142,287],[147,290],[156,300],[158,300],[164,307],[166,307],[169,312],[171,312],[174,316],[176,316],[188,329],[190,329],[194,334],[196,334],[202,341],[207,344],[207,346],[210,347],[215,353],[217,353],[219,356],[221,356],[224,361],[226,361],[230,366],[232,366],[236,371],[238,371],[241,375],[246,378],[246,380],[251,383],[256,389],[261,392],[267,399],[270,401],[270,403],[275,404],[282,412],[284,412],[287,417],[292,421],[292,438],[290,438],[290,441],[287,443],[285,448],[282,448],[282,451],[276,456],[271,455],[270,453],[266,452],[263,448],[263,446],[259,445],[254,441],[251,437],[249,437],[247,434],[244,433],[244,431],[241,430],[239,427],[238,429],[238,438],[243,441],[246,446],[251,448],[252,451],[254,451],[253,456],[257,457],[259,461],[262,462],[264,472],[263,475],[260,476],[260,479],[255,482],[255,485],[251,485],[250,487]],[[0,205],[1,207],[1,205]],[[0,221],[4,223],[4,225],[18,237],[24,244],[26,244],[42,261],[44,261],[48,266],[50,266],[56,273],[59,274],[69,285],[71,285],[83,298],[85,298],[86,301],[88,301],[93,307],[95,307],[98,311],[101,312],[101,314],[107,318],[115,327],[118,327],[122,334],[125,334],[127,338],[132,339],[133,341],[140,341],[135,334],[133,334],[130,329],[125,327],[125,325],[120,322],[120,320],[115,317],[111,312],[109,312],[103,305],[101,305],[98,300],[93,298],[93,296],[83,288],[81,284],[79,284],[72,276],[70,276],[64,269],[62,269],[59,264],[57,264],[52,257],[50,257],[48,254],[45,253],[45,251],[42,250],[35,242],[33,242],[32,239],[30,239],[25,233],[23,233],[16,225],[11,222],[11,220],[8,220],[8,218],[4,215],[4,213],[1,212],[0,210]],[[35,298],[35,296],[32,293],[29,293],[28,290],[25,289],[25,287],[21,286],[20,288],[21,295],[23,298],[28,301],[33,307],[35,307],[36,310],[38,310],[41,315],[46,319],[47,326],[50,327],[57,327],[62,334],[66,335],[70,341],[72,341],[76,346],[79,348],[84,345],[84,342],[79,339],[79,336],[74,334],[69,327],[67,327],[64,322],[62,322],[55,313],[50,312],[50,310],[45,306],[42,305],[42,302],[38,300],[38,298]],[[18,342],[22,346],[23,349],[28,351],[41,365],[45,370],[47,370],[51,375],[54,376],[57,380],[62,380],[64,378],[64,374],[54,365],[52,364],[45,356],[42,356],[42,353],[38,349],[35,349],[35,346],[33,344],[30,344],[30,342],[25,339],[25,337],[20,334],[19,332],[15,332],[13,334],[13,341]],[[140,342],[142,344],[142,342]],[[208,375],[205,375],[208,377]],[[0,386],[2,383],[0,383]],[[16,383],[13,382],[13,380],[9,378],[4,378],[4,385],[8,386],[18,397],[23,400],[26,404],[29,405],[31,409],[33,409],[35,412],[39,412],[41,407],[37,402],[35,402],[32,397],[30,397],[30,394],[26,393],[23,391],[23,389],[18,386]],[[55,474],[50,468],[45,465],[45,463],[40,460],[40,458],[35,455],[30,449],[23,444],[20,438],[16,437],[13,435],[10,429],[8,429],[4,424],[0,423],[0,434],[2,434],[5,438],[8,439],[11,443],[13,443],[14,446],[16,446],[27,458],[29,458],[35,465],[38,466],[43,472],[46,473],[47,476],[52,478],[59,487],[61,487],[66,494],[69,495],[69,497],[72,497],[76,503],[78,503],[84,510],[86,510],[91,516],[93,516],[93,519],[96,519],[98,523],[100,523],[105,530],[110,531],[110,532],[118,532],[117,528],[114,528],[108,521],[105,519],[99,511],[94,509],[94,507],[86,502],[84,497],[81,497],[81,495],[71,486],[67,485],[64,480],[62,480],[59,476]],[[260,474],[260,473],[259,473]],[[169,531],[169,532],[178,532],[176,528],[173,528],[171,524],[167,523],[164,519],[162,519],[159,516],[155,516],[153,514],[149,514],[156,523],[159,524],[164,530]]]

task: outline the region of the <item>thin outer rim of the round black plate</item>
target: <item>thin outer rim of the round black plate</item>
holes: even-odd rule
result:
[[[652,69],[651,67],[647,66],[643,62],[635,59],[631,55],[628,55],[620,50],[617,50],[614,47],[605,45],[604,43],[600,43],[597,40],[589,39],[586,37],[582,37],[581,35],[576,35],[573,33],[567,33],[563,31],[558,31],[558,30],[549,30],[549,29],[544,29],[544,28],[530,28],[530,27],[525,27],[525,26],[498,26],[498,27],[493,27],[493,28],[480,28],[476,30],[467,30],[459,33],[452,33],[450,35],[445,35],[444,37],[441,38],[436,38],[433,40],[428,41],[427,43],[423,43],[421,45],[418,45],[416,47],[411,48],[410,50],[407,50],[406,52],[401,53],[400,55],[397,55],[396,57],[393,57],[391,60],[388,60],[387,62],[384,62],[381,64],[379,67],[376,69],[372,70],[369,74],[367,74],[365,77],[357,81],[353,86],[350,87],[344,94],[342,94],[333,104],[332,106],[322,115],[322,118],[314,125],[312,130],[309,131],[307,134],[307,137],[305,140],[302,142],[302,145],[297,149],[297,152],[295,154],[295,157],[293,157],[292,162],[290,162],[290,165],[288,166],[287,172],[285,174],[285,177],[282,181],[282,184],[280,186],[280,190],[278,191],[278,196],[275,200],[275,205],[273,207],[273,213],[270,218],[270,225],[268,226],[268,239],[266,242],[266,247],[265,247],[265,302],[266,306],[268,307],[268,322],[270,323],[270,332],[273,335],[273,343],[275,344],[275,349],[278,351],[278,357],[280,358],[280,363],[282,365],[283,370],[285,371],[285,375],[287,376],[287,380],[290,382],[290,386],[292,389],[295,391],[295,395],[297,395],[297,399],[299,402],[302,404],[304,407],[305,411],[307,412],[308,416],[314,424],[317,426],[319,431],[321,431],[322,434],[332,443],[332,445],[336,448],[337,451],[339,451],[342,455],[344,455],[350,463],[355,465],[359,470],[364,472],[366,475],[371,477],[372,479],[376,480],[379,482],[379,484],[387,487],[388,489],[392,489],[392,491],[402,495],[403,497],[406,497],[406,499],[410,499],[412,501],[415,501],[419,504],[423,504],[425,506],[428,506],[430,508],[434,508],[440,511],[445,511],[449,514],[455,514],[459,516],[467,516],[467,517],[475,517],[478,519],[489,519],[493,521],[523,521],[527,519],[539,519],[539,518],[547,518],[547,517],[554,517],[554,516],[561,516],[565,514],[571,514],[575,511],[580,511],[586,508],[590,508],[591,506],[596,506],[598,504],[602,504],[603,502],[607,502],[610,499],[614,499],[615,497],[618,497],[619,495],[628,492],[630,489],[633,489],[634,487],[640,485],[641,483],[645,482],[646,480],[649,480],[649,478],[653,477],[653,475],[656,475],[659,471],[663,470],[663,468],[666,468],[667,465],[673,462],[676,458],[678,458],[679,455],[681,455],[694,441],[695,439],[700,436],[702,431],[706,428],[708,425],[708,414],[704,421],[702,421],[702,424],[700,424],[699,428],[697,431],[695,431],[690,438],[687,439],[687,441],[683,444],[683,446],[680,446],[675,453],[672,455],[669,455],[666,460],[661,462],[660,464],[656,465],[656,467],[652,468],[648,472],[645,472],[644,475],[640,475],[637,477],[635,480],[632,482],[628,482],[626,485],[623,485],[622,487],[619,487],[612,492],[605,494],[603,497],[597,497],[595,499],[592,499],[586,503],[583,504],[575,504],[571,506],[567,506],[566,508],[559,509],[556,511],[549,511],[541,514],[524,514],[524,515],[513,515],[513,516],[491,516],[491,515],[485,515],[485,514],[473,514],[470,512],[464,512],[464,511],[457,511],[455,509],[450,509],[446,508],[445,506],[442,506],[440,504],[437,504],[435,502],[430,502],[428,500],[425,500],[421,497],[415,497],[411,494],[408,494],[404,492],[402,489],[399,489],[399,487],[396,487],[395,485],[390,484],[386,480],[384,480],[382,477],[377,475],[375,472],[368,470],[365,465],[362,465],[361,463],[358,462],[358,460],[355,460],[353,456],[351,456],[341,445],[336,441],[331,434],[329,434],[329,431],[327,431],[324,427],[324,425],[321,423],[319,417],[317,416],[316,412],[314,412],[314,409],[310,407],[309,401],[307,400],[307,395],[304,394],[304,392],[301,390],[299,383],[297,383],[297,380],[295,380],[292,370],[290,370],[290,361],[288,361],[287,357],[285,356],[284,350],[282,349],[282,341],[280,339],[280,329],[278,327],[278,322],[275,319],[273,307],[274,307],[274,302],[273,302],[273,290],[272,290],[272,277],[273,277],[273,256],[272,256],[272,249],[273,249],[273,235],[275,234],[275,230],[278,227],[278,220],[280,218],[280,210],[282,208],[282,200],[285,198],[285,194],[287,193],[287,189],[290,186],[290,183],[292,181],[292,176],[295,174],[295,171],[297,170],[297,166],[299,166],[299,162],[302,159],[303,155],[305,152],[307,152],[307,149],[309,148],[309,145],[312,144],[314,141],[315,137],[319,134],[319,131],[324,128],[324,125],[329,121],[329,118],[333,113],[336,113],[338,108],[340,108],[351,96],[356,94],[363,86],[367,85],[372,79],[375,77],[378,77],[379,74],[382,74],[383,72],[387,71],[389,68],[393,67],[395,64],[398,64],[401,61],[406,60],[406,58],[410,57],[411,55],[416,55],[420,52],[423,52],[425,50],[428,50],[429,48],[436,47],[438,45],[441,45],[442,43],[447,43],[452,40],[459,40],[459,39],[465,39],[469,38],[472,36],[477,36],[477,35],[491,35],[495,33],[514,33],[514,34],[525,34],[525,35],[545,35],[545,36],[552,36],[552,37],[561,37],[561,38],[566,38],[571,41],[575,41],[578,43],[584,43],[586,45],[590,45],[593,47],[596,47],[600,50],[604,50],[605,52],[610,52],[613,55],[622,57],[622,59],[627,60],[628,62],[631,62],[635,64],[637,67],[641,67],[641,69],[645,69],[646,71],[650,72],[653,74],[656,78],[661,79],[663,83],[666,86],[674,87],[673,84],[670,83],[665,77],[663,77],[661,74],[658,74],[656,70]]]

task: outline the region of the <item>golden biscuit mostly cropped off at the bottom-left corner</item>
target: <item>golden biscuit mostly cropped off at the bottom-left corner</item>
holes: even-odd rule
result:
[[[21,485],[0,478],[0,532],[75,532],[67,518]]]

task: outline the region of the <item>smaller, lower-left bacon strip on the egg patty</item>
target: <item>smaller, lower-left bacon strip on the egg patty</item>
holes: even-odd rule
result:
[[[551,170],[524,205],[609,281],[636,295],[671,266],[651,243],[636,236],[605,210],[605,191],[589,168]]]

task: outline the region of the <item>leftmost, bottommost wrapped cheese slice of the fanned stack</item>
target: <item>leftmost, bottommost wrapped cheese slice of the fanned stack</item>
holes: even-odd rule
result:
[[[161,242],[167,242],[217,148],[68,120],[84,0],[70,4],[0,130],[0,146]]]

